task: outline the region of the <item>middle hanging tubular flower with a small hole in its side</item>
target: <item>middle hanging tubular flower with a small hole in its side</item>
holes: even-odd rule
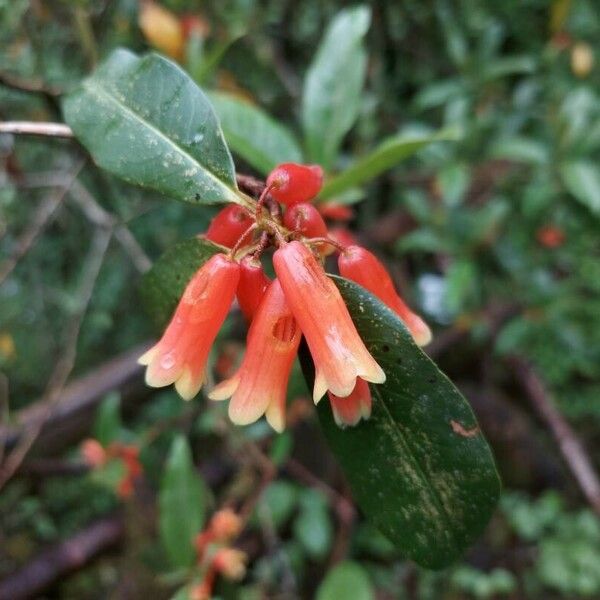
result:
[[[285,427],[285,399],[300,329],[288,308],[279,281],[268,287],[248,332],[247,350],[238,372],[208,395],[231,397],[229,417],[238,425],[263,414],[276,431]]]

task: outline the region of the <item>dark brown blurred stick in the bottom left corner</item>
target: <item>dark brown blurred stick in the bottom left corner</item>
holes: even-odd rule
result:
[[[42,551],[22,569],[6,577],[0,582],[0,598],[37,597],[65,575],[118,544],[124,534],[125,527],[119,517],[97,521],[72,538]]]

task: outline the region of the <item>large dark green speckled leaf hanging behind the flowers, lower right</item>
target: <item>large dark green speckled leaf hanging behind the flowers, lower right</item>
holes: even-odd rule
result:
[[[323,400],[323,431],[368,519],[418,564],[445,567],[494,510],[500,481],[492,453],[467,401],[395,313],[360,286],[333,279],[387,381],[371,386],[371,418],[356,427],[337,427]],[[306,356],[303,368],[312,380]]]

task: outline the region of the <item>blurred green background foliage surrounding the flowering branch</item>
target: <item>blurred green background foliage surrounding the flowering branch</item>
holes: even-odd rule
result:
[[[294,134],[315,49],[348,5],[162,2],[173,15],[195,17],[185,44],[171,48],[192,77]],[[198,528],[206,510],[251,496],[261,460],[277,471],[242,536],[248,575],[241,584],[222,584],[222,597],[600,597],[600,521],[511,369],[515,356],[534,366],[598,464],[600,11],[594,0],[370,6],[364,91],[329,166],[341,170],[399,132],[459,132],[339,200],[353,204],[351,228],[385,257],[433,325],[432,354],[465,391],[494,446],[506,489],[485,537],[462,564],[431,573],[402,561],[352,511],[348,517],[347,490],[298,372],[290,430],[281,436],[263,423],[231,428],[222,406],[184,405],[171,391],[138,389],[133,402],[112,392],[95,429],[79,431],[79,439],[139,446],[142,489],[120,502],[113,493],[119,474],[108,467],[91,475],[24,469],[0,495],[0,578],[46,544],[116,512],[127,517],[125,541],[55,584],[52,597],[169,597],[185,578],[169,555],[169,527],[181,523],[165,523],[173,512],[162,497],[167,457],[184,444],[191,454],[186,462],[178,451],[181,485],[187,489],[186,478],[197,483],[194,514],[184,525]],[[169,51],[140,20],[134,0],[0,0],[0,119],[60,121],[57,94],[111,49],[144,51],[152,43]],[[108,215],[126,226],[137,243],[113,240],[102,253],[73,376],[151,338],[139,309],[139,272],[147,257],[204,230],[212,214],[162,202],[89,163],[80,167],[80,156],[70,141],[0,136],[0,393],[9,392],[11,416],[43,397],[70,343],[85,308],[86,273],[96,264],[98,219]],[[261,174],[242,156],[235,160],[238,172]],[[76,173],[80,186],[57,200],[60,185]],[[7,272],[36,215],[53,203],[43,232]],[[219,376],[239,360],[239,315],[221,340]],[[3,412],[8,416],[5,406]],[[186,438],[178,437],[182,431]],[[54,460],[73,465],[78,456],[73,440]]]

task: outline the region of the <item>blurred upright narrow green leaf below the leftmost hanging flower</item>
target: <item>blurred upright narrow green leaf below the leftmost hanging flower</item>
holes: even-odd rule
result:
[[[206,493],[182,435],[171,445],[158,502],[160,539],[167,556],[173,567],[189,567],[195,557],[194,537],[204,524]]]

